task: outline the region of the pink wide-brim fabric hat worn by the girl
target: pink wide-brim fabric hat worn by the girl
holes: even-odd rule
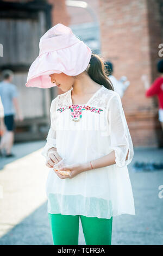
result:
[[[65,73],[76,76],[86,70],[91,49],[72,33],[71,28],[58,23],[39,42],[39,56],[29,68],[26,87],[51,88],[49,75]]]

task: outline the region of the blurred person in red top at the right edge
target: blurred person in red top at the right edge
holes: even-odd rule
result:
[[[146,75],[142,76],[142,81],[145,84],[146,89],[146,97],[153,97],[157,96],[159,101],[159,121],[161,124],[161,128],[163,131],[163,59],[159,60],[157,63],[157,70],[159,72],[159,77],[155,79],[155,81],[152,83],[151,87],[148,81],[148,77]]]

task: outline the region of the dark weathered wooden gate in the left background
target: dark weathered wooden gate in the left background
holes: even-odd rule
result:
[[[20,93],[18,101],[24,117],[22,122],[15,123],[16,141],[47,137],[48,131],[40,132],[39,127],[49,127],[52,88],[27,88],[25,84],[30,65],[39,56],[40,38],[51,27],[51,8],[52,5],[42,1],[26,4],[0,1],[0,37],[4,46],[4,57],[0,58],[0,71],[14,71],[12,83],[17,86]],[[29,131],[23,132],[23,129]]]

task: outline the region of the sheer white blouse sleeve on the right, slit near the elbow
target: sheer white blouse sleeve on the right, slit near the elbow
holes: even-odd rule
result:
[[[111,148],[115,151],[115,162],[118,167],[126,166],[134,156],[133,143],[131,141],[126,117],[124,115],[120,95],[117,93],[109,101],[109,134]],[[128,158],[127,153],[129,150]]]

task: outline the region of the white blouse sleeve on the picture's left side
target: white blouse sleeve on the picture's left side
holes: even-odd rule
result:
[[[52,100],[51,108],[50,108],[50,114],[51,114],[51,126],[48,131],[48,135],[46,138],[46,144],[45,147],[43,147],[43,150],[41,154],[45,157],[47,157],[48,150],[51,148],[56,148],[56,98]]]

